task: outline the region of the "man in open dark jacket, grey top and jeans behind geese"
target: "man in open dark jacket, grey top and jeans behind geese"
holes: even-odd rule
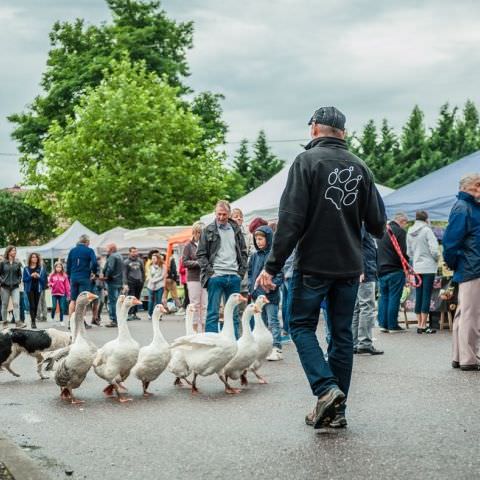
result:
[[[218,332],[222,297],[227,300],[232,293],[240,293],[240,282],[247,271],[245,239],[237,222],[230,219],[230,212],[227,201],[217,202],[215,220],[203,229],[198,243],[200,282],[208,292],[205,332]],[[238,337],[237,308],[233,321]]]

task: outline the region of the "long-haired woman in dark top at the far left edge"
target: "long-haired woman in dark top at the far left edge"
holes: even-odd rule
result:
[[[8,322],[8,304],[13,303],[13,316],[20,322],[20,283],[22,283],[22,265],[16,259],[17,249],[9,245],[0,262],[0,295],[2,299],[3,324]],[[21,323],[21,322],[20,322]],[[23,325],[21,325],[23,326]]]

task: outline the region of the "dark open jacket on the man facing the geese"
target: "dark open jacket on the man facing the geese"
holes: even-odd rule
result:
[[[238,275],[243,278],[247,272],[247,246],[242,230],[233,220],[228,221],[235,233],[235,247],[237,250]],[[200,265],[200,282],[203,287],[207,286],[209,278],[213,275],[213,264],[220,249],[220,235],[218,234],[217,223],[213,221],[207,225],[202,232],[197,248],[197,260]]]

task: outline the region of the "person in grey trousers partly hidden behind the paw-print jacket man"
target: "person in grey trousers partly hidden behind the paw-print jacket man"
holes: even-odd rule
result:
[[[377,247],[370,234],[362,229],[363,273],[360,275],[357,301],[353,311],[352,333],[354,353],[381,355],[373,346],[375,323],[375,285],[377,281]]]

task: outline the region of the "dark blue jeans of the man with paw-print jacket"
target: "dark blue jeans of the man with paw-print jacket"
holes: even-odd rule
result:
[[[292,279],[290,334],[297,347],[312,392],[322,396],[338,386],[347,396],[353,365],[352,317],[358,278],[328,279],[295,271]],[[316,331],[320,306],[327,299],[331,339],[328,361]]]

